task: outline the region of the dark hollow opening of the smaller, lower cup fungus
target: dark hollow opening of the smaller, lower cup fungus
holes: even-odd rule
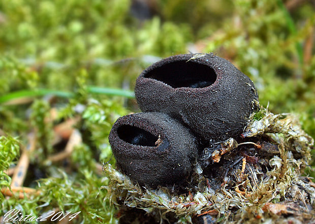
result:
[[[124,142],[139,146],[155,147],[159,139],[152,133],[131,125],[121,125],[117,129],[117,134]]]

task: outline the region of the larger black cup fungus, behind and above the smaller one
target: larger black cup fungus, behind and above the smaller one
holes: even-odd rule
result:
[[[137,78],[135,95],[142,111],[169,114],[207,140],[237,137],[258,102],[253,82],[213,54],[180,54],[152,64]]]

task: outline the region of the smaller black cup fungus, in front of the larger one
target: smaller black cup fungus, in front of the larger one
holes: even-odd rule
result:
[[[197,158],[192,132],[162,113],[139,113],[119,118],[109,134],[116,165],[140,185],[180,183]]]

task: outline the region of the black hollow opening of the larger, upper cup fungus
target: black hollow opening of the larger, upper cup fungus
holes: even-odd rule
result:
[[[162,81],[173,88],[205,88],[216,80],[215,71],[207,65],[192,61],[176,61],[154,68],[146,78]]]

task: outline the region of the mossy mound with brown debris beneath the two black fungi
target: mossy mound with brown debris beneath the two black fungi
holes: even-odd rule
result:
[[[298,119],[261,108],[242,136],[205,148],[191,180],[180,186],[144,188],[105,165],[107,197],[122,214],[133,212],[120,223],[315,221],[315,184],[302,176],[314,141]]]

